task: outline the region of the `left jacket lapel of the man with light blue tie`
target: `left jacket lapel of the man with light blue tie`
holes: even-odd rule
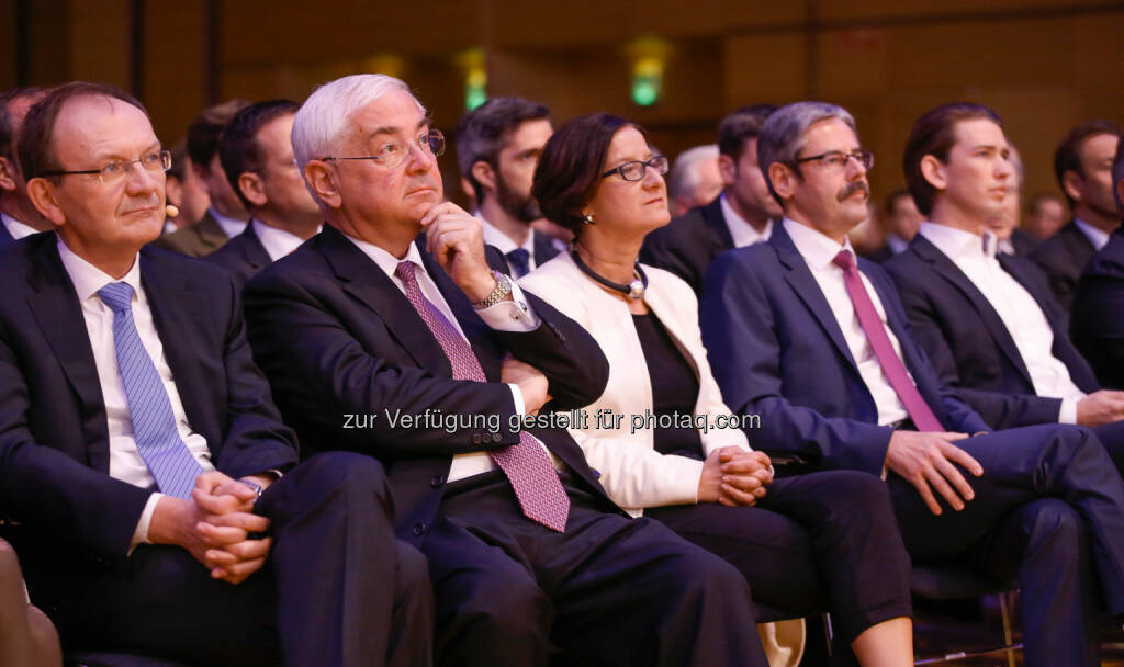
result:
[[[90,467],[109,473],[109,426],[101,381],[93,360],[93,348],[85,328],[82,304],[74,284],[58,257],[55,235],[37,239],[35,269],[29,282],[35,293],[28,296],[43,338],[58,359],[63,374],[82,404],[82,431]]]

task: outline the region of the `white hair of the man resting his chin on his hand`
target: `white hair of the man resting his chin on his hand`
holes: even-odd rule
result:
[[[386,74],[352,74],[312,91],[292,120],[292,152],[300,171],[311,159],[330,156],[351,129],[352,116],[393,90],[410,95],[426,113],[405,81]]]

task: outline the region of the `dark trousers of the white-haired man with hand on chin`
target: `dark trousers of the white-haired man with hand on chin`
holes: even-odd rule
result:
[[[767,667],[736,569],[562,479],[564,533],[525,518],[501,473],[450,485],[423,545],[438,664],[537,667],[561,650],[582,665]]]

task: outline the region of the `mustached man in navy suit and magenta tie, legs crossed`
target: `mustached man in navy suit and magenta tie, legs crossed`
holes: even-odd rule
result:
[[[1096,665],[1097,591],[1124,611],[1124,483],[1103,446],[1078,427],[986,435],[941,383],[889,277],[846,238],[873,164],[850,113],[786,107],[758,150],[786,218],[715,259],[703,296],[726,403],[760,415],[767,451],[883,475],[915,564],[1017,576],[1027,665]]]

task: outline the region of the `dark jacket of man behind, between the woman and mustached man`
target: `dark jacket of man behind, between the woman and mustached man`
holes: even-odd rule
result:
[[[734,247],[722,197],[705,207],[694,208],[656,229],[644,239],[640,259],[665,268],[687,281],[696,294],[703,292],[703,277],[710,261]]]

